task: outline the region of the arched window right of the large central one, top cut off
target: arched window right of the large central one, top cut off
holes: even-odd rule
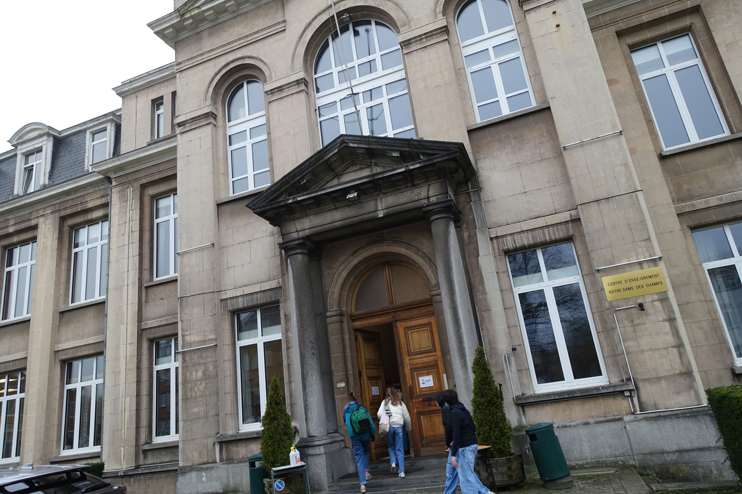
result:
[[[456,16],[476,120],[533,106],[518,33],[506,0],[469,0]]]

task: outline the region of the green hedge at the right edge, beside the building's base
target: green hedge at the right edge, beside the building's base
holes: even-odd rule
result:
[[[742,386],[706,390],[716,424],[729,455],[729,465],[742,480]]]

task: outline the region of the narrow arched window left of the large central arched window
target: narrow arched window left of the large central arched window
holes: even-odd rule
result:
[[[237,84],[227,100],[229,193],[234,195],[271,183],[263,84]]]

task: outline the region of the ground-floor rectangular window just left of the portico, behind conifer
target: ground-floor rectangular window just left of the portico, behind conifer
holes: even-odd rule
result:
[[[283,350],[278,305],[234,315],[237,330],[237,376],[240,430],[260,429],[271,379],[283,390]]]

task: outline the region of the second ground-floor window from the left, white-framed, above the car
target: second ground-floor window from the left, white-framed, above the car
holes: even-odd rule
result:
[[[62,412],[62,453],[100,449],[103,423],[103,356],[67,363]]]

